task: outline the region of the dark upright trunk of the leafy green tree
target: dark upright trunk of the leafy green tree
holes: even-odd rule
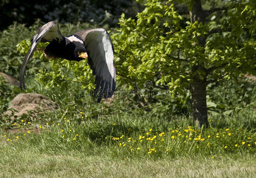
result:
[[[201,0],[195,0],[191,11],[189,11],[191,23],[198,21],[199,23],[204,23],[207,14],[206,11],[202,9]],[[206,45],[206,39],[203,36],[198,37],[198,44],[200,46]],[[207,119],[207,106],[206,106],[206,77],[207,74],[203,75],[202,72],[199,74],[197,72],[206,71],[203,63],[199,63],[191,67],[192,81],[190,85],[190,91],[192,95],[192,109],[193,117],[195,120],[195,125],[208,127]]]

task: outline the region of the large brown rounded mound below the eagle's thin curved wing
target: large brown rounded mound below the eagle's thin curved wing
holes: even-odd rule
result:
[[[38,112],[58,109],[58,104],[50,101],[48,97],[37,93],[20,93],[12,101],[8,109],[14,109],[14,116],[21,116],[28,111],[34,111],[34,115]],[[11,110],[5,112],[11,115]]]

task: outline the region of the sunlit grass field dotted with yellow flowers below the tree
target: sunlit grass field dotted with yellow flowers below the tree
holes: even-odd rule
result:
[[[20,120],[1,131],[0,176],[255,177],[255,130],[239,117],[212,117],[208,129],[137,114]]]

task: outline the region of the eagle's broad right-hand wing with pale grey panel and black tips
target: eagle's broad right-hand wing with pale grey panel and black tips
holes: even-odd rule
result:
[[[112,41],[108,32],[103,28],[81,30],[75,34],[84,40],[89,55],[89,65],[93,70],[93,75],[96,75],[94,95],[98,96],[97,102],[99,103],[103,94],[105,98],[109,98],[115,91],[116,72]]]

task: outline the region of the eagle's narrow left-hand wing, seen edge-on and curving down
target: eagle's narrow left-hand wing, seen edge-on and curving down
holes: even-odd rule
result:
[[[25,82],[24,82],[24,74],[27,62],[29,61],[29,58],[33,55],[34,50],[36,50],[36,47],[39,42],[52,42],[53,40],[61,40],[64,37],[61,34],[61,31],[59,31],[57,23],[55,21],[50,21],[49,23],[43,25],[39,28],[39,31],[37,34],[34,35],[34,37],[31,39],[31,47],[29,51],[27,52],[26,58],[23,61],[20,69],[20,88],[25,89]]]

